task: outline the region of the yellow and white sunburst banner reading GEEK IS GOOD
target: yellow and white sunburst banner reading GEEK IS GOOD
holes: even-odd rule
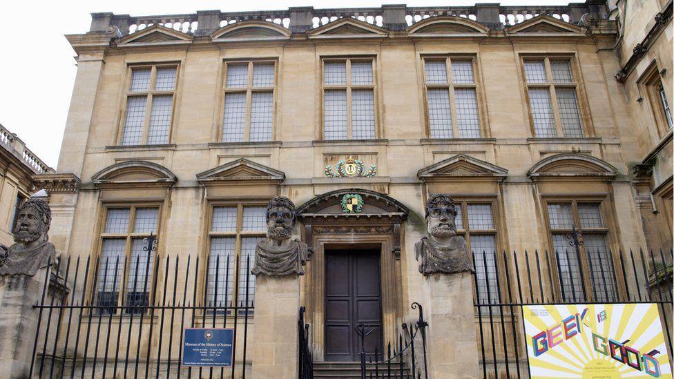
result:
[[[522,307],[532,379],[672,378],[657,304]]]

